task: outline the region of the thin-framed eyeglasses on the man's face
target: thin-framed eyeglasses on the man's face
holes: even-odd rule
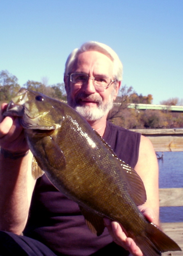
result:
[[[87,74],[83,74],[83,73],[72,73],[72,74],[68,74],[68,76],[70,76],[70,81],[74,84],[85,84],[86,82],[88,82],[88,79],[91,78],[93,79],[94,85],[104,87],[104,88],[111,86],[113,82],[117,81],[117,80],[112,80],[107,76],[90,77]]]

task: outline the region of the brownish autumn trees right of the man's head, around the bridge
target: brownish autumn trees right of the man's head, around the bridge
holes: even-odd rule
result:
[[[123,86],[121,94],[115,100],[113,109],[109,112],[108,120],[127,129],[153,129],[153,128],[182,128],[183,113],[169,110],[139,110],[127,108],[129,103],[152,104],[153,96],[138,95],[133,87]],[[161,105],[181,106],[183,101],[179,98],[170,98],[160,102]]]

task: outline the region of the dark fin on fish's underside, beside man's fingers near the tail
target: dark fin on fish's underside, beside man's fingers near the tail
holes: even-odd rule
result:
[[[82,206],[80,206],[80,210],[91,232],[97,236],[100,236],[105,228],[105,225],[103,224],[103,218],[96,214],[88,212]]]

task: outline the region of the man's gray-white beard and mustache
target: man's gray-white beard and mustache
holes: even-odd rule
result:
[[[101,96],[96,98],[95,96],[88,96],[87,94],[82,92],[78,94],[74,100],[72,100],[70,97],[70,92],[68,92],[68,104],[69,106],[74,108],[81,116],[83,116],[87,121],[95,121],[108,114],[109,110],[113,108],[114,94],[115,89],[113,89],[111,94],[109,95],[109,101],[106,104],[103,104]],[[98,107],[93,109],[90,106],[80,106],[78,98],[88,98],[90,100],[93,100],[97,102]]]

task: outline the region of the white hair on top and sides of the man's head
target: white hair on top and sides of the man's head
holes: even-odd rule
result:
[[[106,44],[94,41],[86,42],[82,44],[80,48],[76,48],[71,52],[66,61],[64,76],[68,75],[72,71],[72,68],[78,55],[82,52],[88,51],[101,52],[105,54],[107,57],[109,57],[113,62],[113,78],[117,79],[117,81],[122,80],[123,65],[119,60],[117,54]]]

